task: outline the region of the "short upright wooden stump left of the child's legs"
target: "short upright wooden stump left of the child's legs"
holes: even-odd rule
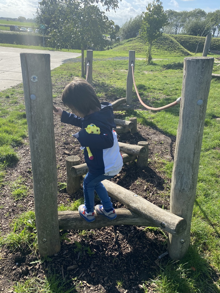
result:
[[[72,166],[80,165],[79,156],[68,156],[66,158],[66,171],[67,171],[67,193],[71,194],[80,190],[81,180],[80,176],[75,177],[71,172]]]

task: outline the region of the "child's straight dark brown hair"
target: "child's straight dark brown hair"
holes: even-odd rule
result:
[[[74,107],[84,116],[92,110],[94,112],[101,109],[101,104],[94,91],[94,88],[82,78],[75,77],[65,87],[62,95],[62,102],[68,108]]]

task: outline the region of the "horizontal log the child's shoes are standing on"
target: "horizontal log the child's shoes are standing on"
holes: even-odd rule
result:
[[[59,229],[60,230],[91,230],[100,229],[102,227],[114,226],[114,225],[135,225],[135,226],[147,226],[158,227],[151,223],[145,217],[141,217],[138,214],[132,212],[129,209],[116,209],[117,217],[114,220],[109,220],[102,215],[95,213],[94,222],[86,222],[78,211],[63,211],[58,212]]]

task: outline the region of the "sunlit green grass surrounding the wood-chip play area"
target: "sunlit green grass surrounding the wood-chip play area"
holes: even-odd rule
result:
[[[128,57],[128,50],[133,50],[132,44],[133,40],[130,40],[129,42],[121,42],[121,46],[114,47],[113,50],[94,52],[93,84],[99,97],[108,100],[108,98],[118,99],[126,96],[128,61],[99,59],[119,56]],[[140,43],[138,45],[137,41],[136,46],[139,48],[136,57],[145,58],[144,47]],[[42,50],[46,48],[39,49]],[[74,50],[74,52],[77,52],[77,50]],[[177,52],[177,47],[175,47],[173,53],[167,53],[165,50],[157,47],[154,48],[153,58],[158,60],[154,60],[152,64],[146,65],[144,60],[136,60],[135,79],[144,103],[153,107],[160,107],[167,103],[171,103],[181,96],[183,58],[185,56],[180,56],[182,51],[179,51],[178,54]],[[195,56],[192,53],[191,55]],[[197,56],[199,56],[199,54],[197,54]],[[214,64],[213,71],[215,73],[220,73],[217,64]],[[80,72],[80,62],[67,62],[54,69],[51,72],[54,92],[60,92],[60,88],[56,88],[56,80],[63,81],[64,84],[67,84],[68,81],[72,79],[72,76],[80,76]],[[10,89],[0,93],[0,97],[4,97],[8,101],[8,105],[10,105],[10,107],[8,107],[8,105],[1,105],[0,108],[0,118],[2,118],[3,121],[6,121],[5,123],[2,122],[0,128],[0,130],[4,129],[2,133],[7,134],[5,136],[2,135],[3,141],[6,144],[5,153],[14,151],[14,154],[16,154],[16,146],[22,143],[23,136],[26,135],[26,121],[25,117],[22,116],[24,110],[19,103],[21,91],[21,87],[18,86],[13,89],[13,92]],[[219,91],[219,80],[212,79],[202,142],[197,194],[193,210],[191,246],[184,259],[178,262],[169,261],[166,265],[161,267],[157,275],[155,275],[154,271],[155,277],[153,277],[150,284],[153,285],[154,292],[156,293],[220,292],[219,280],[216,279],[213,281],[211,279],[215,272],[218,274],[220,273],[220,122],[219,120],[216,120],[216,117],[220,117],[220,106],[218,103]],[[17,104],[15,103],[16,97],[18,98]],[[134,103],[139,103],[134,91],[133,101]],[[21,107],[20,110],[18,109],[19,106]],[[143,109],[141,105],[138,107]],[[138,118],[138,123],[141,125],[157,127],[158,130],[161,130],[167,135],[176,136],[179,110],[180,106],[177,105],[160,112],[137,110],[124,114],[126,116],[125,119],[135,116]],[[18,115],[18,113],[20,114]],[[14,132],[13,129],[10,128],[10,120],[14,121],[12,122],[14,127],[16,127],[16,131]],[[16,140],[15,136],[18,133],[20,134]],[[10,135],[12,137],[10,137]],[[1,147],[4,147],[5,144],[0,146],[0,154]],[[0,155],[0,158],[1,157],[3,158],[3,156]],[[16,162],[18,157],[13,158],[11,154],[11,160],[12,162]],[[6,156],[4,159],[1,159],[0,184],[4,181],[4,167],[8,166],[10,162],[10,159],[7,161]],[[162,170],[165,179],[171,178],[173,166],[171,159],[160,158],[158,154],[157,157],[151,158],[150,164],[154,164],[158,169]],[[76,210],[77,205],[81,204],[81,202],[77,202],[74,204],[74,207],[71,207],[73,204],[74,203],[69,206],[60,205],[59,210],[70,208]],[[21,233],[25,227],[22,226],[19,229],[20,230],[18,231]],[[17,242],[15,241],[15,243]],[[21,244],[16,245],[21,246]],[[84,248],[78,247],[77,249],[81,251]],[[86,252],[88,254],[92,253],[89,250]],[[144,281],[146,281],[146,284],[144,283],[143,290],[147,292],[147,284],[149,284],[149,280]],[[122,285],[120,281],[118,282],[119,286]],[[30,286],[33,286],[33,284]],[[38,291],[35,289],[34,292]]]

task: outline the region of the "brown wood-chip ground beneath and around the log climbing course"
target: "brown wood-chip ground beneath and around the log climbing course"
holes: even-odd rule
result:
[[[57,94],[63,84],[56,84]],[[113,100],[108,99],[109,102]],[[60,106],[60,104],[59,104]],[[137,105],[138,107],[138,105]],[[124,118],[115,114],[115,118]],[[54,117],[55,145],[57,158],[58,182],[66,181],[65,158],[78,155],[84,163],[82,151],[77,139],[71,134],[78,131],[76,127],[65,125],[60,118]],[[159,207],[169,209],[170,180],[158,168],[160,158],[172,161],[174,156],[175,137],[170,137],[156,128],[138,125],[136,134],[119,134],[120,142],[137,144],[138,141],[149,142],[149,165],[138,168],[135,162],[124,164],[119,175],[111,179],[124,188],[141,195]],[[11,232],[10,224],[22,212],[34,210],[31,157],[28,139],[18,147],[20,161],[7,169],[6,184],[1,189],[0,209],[1,235]],[[21,176],[29,188],[28,197],[14,201],[11,197],[11,183]],[[58,193],[58,205],[67,205],[69,201],[82,197],[82,190],[68,195],[66,190]],[[97,201],[96,204],[99,202]],[[113,200],[115,208],[124,207]],[[2,247],[0,251],[0,290],[8,291],[16,281],[30,277],[43,278],[50,272],[56,272],[70,285],[77,285],[76,292],[107,292],[107,293],[139,293],[143,292],[142,284],[154,278],[161,264],[166,263],[168,256],[158,259],[165,253],[166,239],[158,229],[146,229],[136,226],[110,226],[99,230],[61,231],[68,232],[70,242],[63,241],[60,253],[51,261],[33,263],[39,255],[33,254],[28,248],[10,251]],[[78,246],[77,246],[77,243]],[[88,249],[89,248],[89,249]],[[77,278],[77,280],[75,280]],[[148,292],[153,287],[148,284]]]

